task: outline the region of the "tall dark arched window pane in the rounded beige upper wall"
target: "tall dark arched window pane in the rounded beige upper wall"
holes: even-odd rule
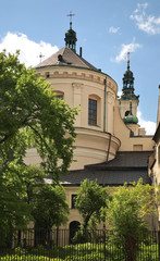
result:
[[[88,124],[97,126],[97,100],[88,101]]]

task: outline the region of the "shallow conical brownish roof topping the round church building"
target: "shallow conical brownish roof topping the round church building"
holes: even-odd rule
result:
[[[45,66],[54,66],[54,65],[63,65],[63,66],[77,66],[85,67],[98,71],[95,66],[88,63],[85,59],[79,57],[77,53],[73,52],[70,48],[64,47],[59,50],[57,53],[46,59],[41,63],[39,63],[36,69],[45,67]]]

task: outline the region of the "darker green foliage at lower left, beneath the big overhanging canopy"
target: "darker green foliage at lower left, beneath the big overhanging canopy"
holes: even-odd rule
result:
[[[0,235],[5,238],[5,245],[10,246],[14,228],[24,228],[33,220],[30,202],[44,185],[44,176],[37,166],[14,162],[5,170],[0,187]]]

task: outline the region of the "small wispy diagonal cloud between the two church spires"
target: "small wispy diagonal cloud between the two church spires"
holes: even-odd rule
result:
[[[135,42],[135,38],[134,38],[131,44],[128,44],[128,45],[124,45],[124,44],[123,44],[123,45],[121,46],[120,53],[115,57],[115,59],[112,59],[112,61],[119,63],[119,62],[121,62],[122,60],[125,60],[127,52],[135,52],[135,50],[136,50],[137,48],[140,48],[140,47],[141,47],[141,45],[136,44],[136,42]]]

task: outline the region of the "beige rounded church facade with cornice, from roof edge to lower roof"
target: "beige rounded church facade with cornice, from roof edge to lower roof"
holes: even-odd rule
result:
[[[111,160],[118,150],[152,150],[151,137],[139,136],[138,124],[126,126],[122,121],[122,108],[116,99],[118,85],[110,76],[90,69],[70,65],[39,66],[37,73],[41,77],[49,75],[47,80],[50,82],[50,88],[58,96],[63,96],[70,107],[81,109],[75,122],[77,140],[74,160],[76,162],[71,165],[71,170]],[[107,80],[106,87],[104,80]],[[96,126],[88,124],[89,98],[97,101]],[[123,114],[127,107],[128,104],[123,107]],[[135,115],[136,107],[137,103],[134,109]],[[131,137],[131,129],[135,133],[134,137]]]

